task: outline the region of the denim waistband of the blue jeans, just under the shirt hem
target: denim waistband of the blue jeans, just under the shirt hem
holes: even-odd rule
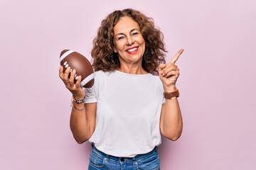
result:
[[[92,143],[92,152],[94,152],[94,154],[97,154],[98,157],[105,157],[105,158],[112,159],[117,162],[119,162],[119,161],[124,162],[127,160],[138,161],[139,159],[151,157],[151,155],[158,153],[158,148],[154,147],[154,149],[151,150],[151,152],[146,153],[146,154],[137,154],[137,156],[135,156],[135,157],[114,157],[112,155],[105,154],[104,152],[101,152]]]

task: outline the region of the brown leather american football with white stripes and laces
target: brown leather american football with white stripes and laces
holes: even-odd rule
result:
[[[85,88],[90,88],[94,84],[94,72],[92,65],[87,60],[87,58],[78,52],[73,50],[63,50],[60,52],[60,65],[65,69],[71,68],[71,72],[75,69],[77,72],[75,74],[75,82],[78,76],[82,77],[81,86]]]

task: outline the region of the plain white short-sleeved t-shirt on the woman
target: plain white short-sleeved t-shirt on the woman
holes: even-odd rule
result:
[[[95,131],[89,141],[105,154],[134,157],[161,144],[163,86],[152,74],[95,72],[85,103],[97,102]]]

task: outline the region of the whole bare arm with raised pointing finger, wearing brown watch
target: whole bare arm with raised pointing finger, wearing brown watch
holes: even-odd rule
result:
[[[176,91],[176,81],[179,76],[179,69],[175,62],[182,52],[183,50],[179,50],[171,59],[170,63],[159,65],[159,77],[162,81],[164,92],[171,93]],[[181,136],[182,128],[181,109],[177,97],[166,99],[166,103],[164,103],[161,108],[161,134],[170,140],[178,140]]]

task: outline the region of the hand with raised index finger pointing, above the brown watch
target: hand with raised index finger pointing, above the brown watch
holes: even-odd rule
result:
[[[178,57],[182,52],[183,49],[178,50],[176,55],[171,59],[171,62],[159,65],[159,77],[163,83],[165,92],[172,92],[176,90],[176,81],[180,72],[175,62],[178,60]]]

